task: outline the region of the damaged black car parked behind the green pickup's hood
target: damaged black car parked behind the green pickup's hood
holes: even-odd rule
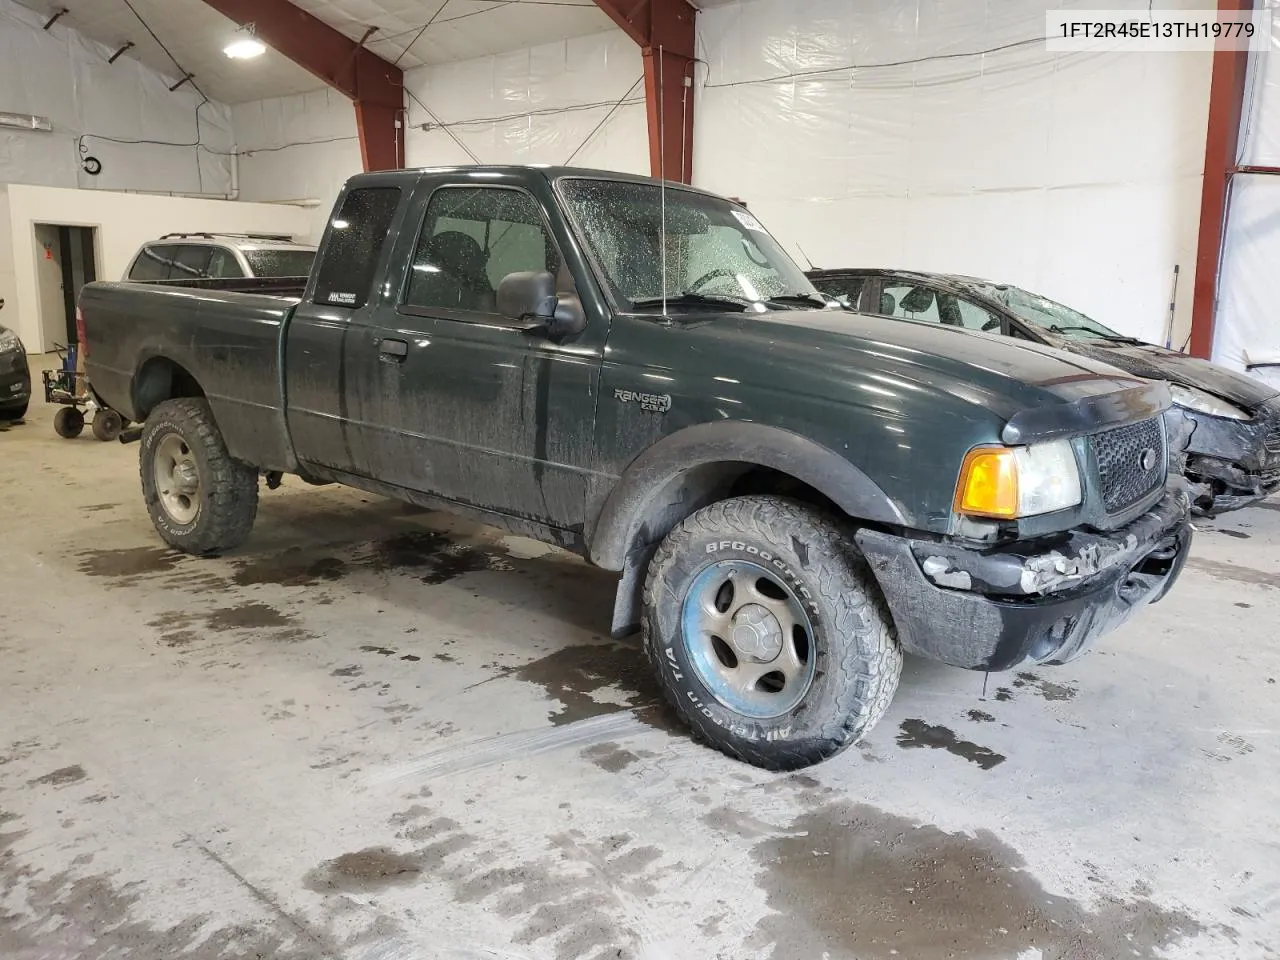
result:
[[[863,314],[998,333],[1167,380],[1193,424],[1187,479],[1201,513],[1236,509],[1280,488],[1280,393],[1253,378],[1124,337],[1005,283],[913,270],[813,270],[809,279]]]

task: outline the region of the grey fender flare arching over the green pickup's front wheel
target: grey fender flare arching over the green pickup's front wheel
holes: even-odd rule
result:
[[[588,539],[591,562],[622,570],[637,543],[659,540],[704,506],[698,502],[698,484],[691,489],[682,477],[735,465],[786,474],[856,520],[910,526],[899,503],[833,451],[781,428],[723,420],[664,436],[631,461],[596,515]]]

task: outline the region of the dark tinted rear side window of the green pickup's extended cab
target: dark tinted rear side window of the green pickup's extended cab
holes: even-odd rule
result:
[[[365,306],[399,200],[399,187],[366,187],[347,195],[320,260],[316,303]]]

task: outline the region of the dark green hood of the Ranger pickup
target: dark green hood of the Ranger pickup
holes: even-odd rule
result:
[[[1089,357],[1007,337],[911,320],[831,310],[730,314],[733,339],[803,371],[795,389],[847,398],[850,388],[883,389],[900,381],[957,397],[1011,419],[1147,385]],[[746,344],[744,344],[746,346]]]

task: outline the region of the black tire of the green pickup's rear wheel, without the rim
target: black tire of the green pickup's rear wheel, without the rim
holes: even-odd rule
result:
[[[189,447],[200,474],[200,509],[189,524],[175,522],[156,490],[155,451],[170,434],[178,434]],[[227,452],[206,401],[188,397],[156,406],[142,428],[138,462],[151,522],[170,547],[207,557],[239,547],[253,530],[257,470]]]

